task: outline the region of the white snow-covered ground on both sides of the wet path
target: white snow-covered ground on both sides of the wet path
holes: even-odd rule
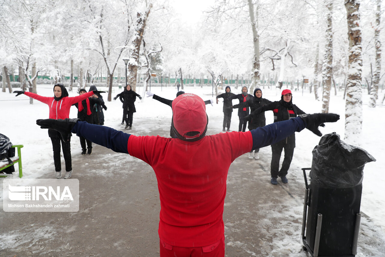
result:
[[[37,91],[39,95],[53,96],[52,85],[38,85]],[[88,88],[86,88],[88,91]],[[241,87],[235,89],[235,85],[231,85],[233,93],[240,93]],[[98,88],[98,90],[105,90],[107,88]],[[264,88],[263,97],[271,101],[280,99],[280,91],[275,88]],[[114,88],[112,93],[115,96],[121,90]],[[151,87],[151,91],[159,96],[167,99],[174,99],[176,88],[173,86],[165,87]],[[200,88],[198,86],[187,86],[184,88],[185,92],[195,93],[203,98],[203,100],[214,99],[214,106],[207,105],[207,113],[209,116],[209,134],[221,132],[222,130],[222,101],[215,104],[215,95],[212,97],[212,88],[210,86]],[[144,95],[142,87],[138,88],[137,93]],[[70,96],[76,96],[77,93],[69,92]],[[321,94],[319,94],[321,95]],[[342,98],[342,92],[338,92],[337,96],[332,95],[330,99],[330,113],[340,114],[340,120],[336,123],[328,123],[325,128],[320,128],[323,134],[336,132],[344,138],[345,128],[345,101]],[[379,98],[382,99],[383,92],[379,93]],[[107,94],[104,94],[107,111],[104,111],[105,125],[117,129],[121,129],[120,125],[122,119],[122,104],[119,100],[107,102]],[[385,119],[382,118],[384,108],[377,106],[376,108],[369,108],[368,95],[363,95],[363,128],[362,128],[362,145],[359,147],[367,150],[373,157],[377,159],[376,162],[370,162],[365,165],[363,178],[363,192],[361,201],[361,211],[368,215],[373,222],[381,227],[382,231],[373,233],[380,233],[383,237],[385,233],[385,220],[383,213],[385,212],[385,191],[383,185],[385,183],[385,176],[383,175],[383,167],[385,167],[385,159],[382,159],[381,149],[384,149],[385,134],[382,132],[385,127]],[[234,100],[234,104],[238,100]],[[303,92],[293,90],[293,103],[301,108],[306,113],[317,113],[321,111],[322,102],[314,100],[313,93],[308,91]],[[143,97],[142,101],[139,99],[136,102],[137,112],[134,114],[133,127],[146,132],[148,123],[141,124],[136,122],[136,117],[151,118],[156,122],[170,123],[171,108],[153,100],[152,97]],[[77,109],[73,107],[70,112],[70,117],[77,116]],[[29,98],[25,95],[15,97],[15,94],[0,92],[0,133],[7,135],[13,144],[23,144],[22,158],[23,158],[23,178],[52,178],[54,165],[52,158],[52,145],[47,135],[47,130],[41,129],[35,124],[39,118],[48,118],[48,107],[44,103],[33,100],[33,105],[29,104]],[[273,115],[271,112],[266,112],[266,123],[273,122]],[[233,112],[231,130],[238,130],[238,116]],[[129,130],[127,130],[129,132]],[[314,135],[308,130],[297,133],[296,148],[294,151],[293,161],[289,170],[289,174],[297,172],[301,173],[302,167],[310,167],[312,161],[311,151],[318,144],[320,137]],[[72,154],[80,154],[81,149],[79,144],[72,144]],[[266,149],[264,149],[266,150]],[[269,149],[268,149],[269,150]],[[132,158],[134,159],[134,158]],[[12,178],[17,178],[17,172],[13,174]],[[301,174],[291,176],[290,179],[301,180]],[[0,183],[0,198],[2,198],[2,183]],[[2,206],[2,199],[0,200]]]

